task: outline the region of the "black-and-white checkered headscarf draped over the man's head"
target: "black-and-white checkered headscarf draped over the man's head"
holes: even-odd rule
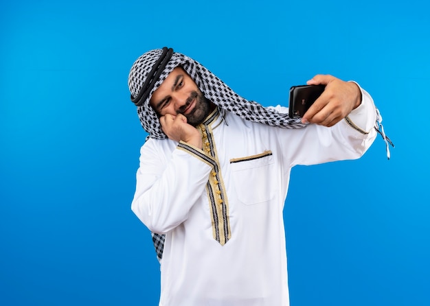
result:
[[[128,75],[128,89],[130,89],[131,99],[137,104],[140,123],[144,130],[148,132],[149,137],[155,139],[166,138],[166,134],[161,130],[159,119],[155,110],[150,106],[149,100],[152,93],[166,80],[168,74],[178,66],[181,66],[190,75],[205,97],[216,104],[222,114],[225,110],[228,110],[242,119],[281,128],[302,128],[305,126],[300,122],[299,118],[290,118],[288,114],[278,113],[271,108],[265,108],[257,102],[240,97],[216,75],[203,67],[202,64],[188,56],[173,52],[172,49],[169,49],[170,54],[168,54],[168,56],[171,56],[170,60],[166,58],[166,62],[160,65],[160,60],[165,56],[166,51],[167,48],[165,47],[146,52],[146,54],[137,58]],[[165,67],[163,67],[164,65]],[[157,68],[160,71],[157,71]],[[150,84],[148,85],[148,83]],[[143,99],[136,101],[137,97],[142,97],[142,91],[146,91],[146,94]]]

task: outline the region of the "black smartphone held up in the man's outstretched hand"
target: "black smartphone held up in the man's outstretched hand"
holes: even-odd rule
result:
[[[306,110],[323,93],[326,85],[299,85],[290,89],[290,101],[288,103],[288,115],[291,118],[303,117]]]

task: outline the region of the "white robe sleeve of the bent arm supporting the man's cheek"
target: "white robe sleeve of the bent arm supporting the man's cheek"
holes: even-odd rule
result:
[[[206,194],[212,169],[201,150],[182,142],[172,149],[169,142],[150,139],[142,146],[131,204],[139,220],[159,234],[187,220],[193,204]]]

